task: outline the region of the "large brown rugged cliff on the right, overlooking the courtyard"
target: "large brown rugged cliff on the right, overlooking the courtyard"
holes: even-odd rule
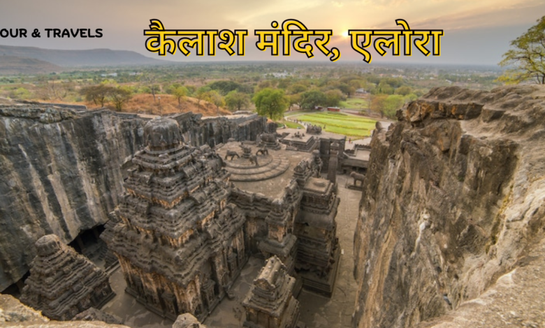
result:
[[[544,304],[543,292],[502,288],[545,269],[530,256],[545,249],[545,89],[433,89],[398,119],[372,139],[354,238],[354,326],[493,327],[475,314],[509,316],[507,295],[518,308]]]

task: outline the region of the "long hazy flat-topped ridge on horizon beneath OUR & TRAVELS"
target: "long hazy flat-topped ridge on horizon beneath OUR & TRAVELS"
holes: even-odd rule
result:
[[[0,45],[0,57],[15,56],[40,59],[62,67],[126,66],[168,64],[168,61],[147,58],[126,50],[50,50],[38,47],[13,47]]]

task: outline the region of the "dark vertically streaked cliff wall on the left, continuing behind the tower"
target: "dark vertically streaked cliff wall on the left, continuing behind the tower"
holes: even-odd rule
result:
[[[187,143],[255,140],[266,119],[175,115]],[[57,234],[68,243],[108,221],[145,119],[54,104],[0,105],[0,290],[18,281],[34,243]]]

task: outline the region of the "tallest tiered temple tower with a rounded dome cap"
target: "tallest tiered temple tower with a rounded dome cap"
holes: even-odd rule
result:
[[[245,217],[228,201],[228,172],[208,145],[184,144],[173,119],[149,121],[133,157],[108,247],[126,292],[175,320],[205,318],[226,295],[249,252]]]

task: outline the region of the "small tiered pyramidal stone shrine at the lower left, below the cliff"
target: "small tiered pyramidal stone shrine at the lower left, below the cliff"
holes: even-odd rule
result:
[[[113,297],[106,272],[54,234],[36,241],[38,255],[21,301],[53,320],[71,320],[88,308],[100,308]]]

